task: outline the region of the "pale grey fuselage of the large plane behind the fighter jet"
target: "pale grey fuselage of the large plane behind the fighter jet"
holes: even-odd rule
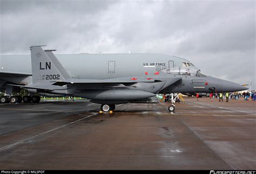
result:
[[[165,54],[56,54],[72,78],[113,79],[180,67],[186,59]],[[0,72],[31,73],[30,55],[0,55]]]

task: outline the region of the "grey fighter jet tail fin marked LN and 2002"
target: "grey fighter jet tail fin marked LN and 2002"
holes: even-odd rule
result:
[[[43,50],[42,46],[31,46],[32,82],[65,81],[71,79],[68,72],[52,53],[56,50]]]

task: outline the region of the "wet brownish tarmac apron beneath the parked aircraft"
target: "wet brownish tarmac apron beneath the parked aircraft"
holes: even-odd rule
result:
[[[255,103],[1,104],[0,169],[256,169]]]

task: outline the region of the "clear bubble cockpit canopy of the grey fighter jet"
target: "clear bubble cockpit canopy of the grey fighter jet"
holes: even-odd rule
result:
[[[185,62],[183,62],[185,63]],[[186,62],[186,64],[191,64]],[[165,73],[171,73],[171,74],[179,74],[179,75],[192,75],[192,76],[207,76],[203,73],[201,73],[200,69],[196,68],[193,64],[191,65],[193,67],[176,67],[176,68],[169,68],[164,69],[163,72]]]

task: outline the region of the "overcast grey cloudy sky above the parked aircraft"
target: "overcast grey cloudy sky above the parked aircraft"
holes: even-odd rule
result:
[[[0,2],[0,54],[163,53],[255,88],[255,1]]]

